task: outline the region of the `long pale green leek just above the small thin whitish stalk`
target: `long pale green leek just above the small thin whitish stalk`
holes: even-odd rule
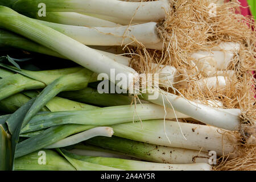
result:
[[[35,115],[35,117],[23,127],[21,133],[71,123],[106,126],[148,119],[163,119],[164,117],[167,119],[175,118],[174,111],[172,109],[167,109],[166,114],[162,106],[155,104],[137,104],[136,106],[123,105],[102,107],[92,110],[51,112]],[[176,112],[176,117],[186,118],[187,116]]]

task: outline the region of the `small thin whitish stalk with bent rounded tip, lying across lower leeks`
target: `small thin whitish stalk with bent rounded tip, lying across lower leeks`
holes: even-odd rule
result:
[[[72,144],[77,144],[89,138],[104,136],[104,137],[112,137],[114,131],[111,127],[94,127],[93,129],[83,131],[79,134],[72,135],[71,137],[67,137],[62,139],[56,143],[50,144],[44,148],[60,148],[71,146]]]

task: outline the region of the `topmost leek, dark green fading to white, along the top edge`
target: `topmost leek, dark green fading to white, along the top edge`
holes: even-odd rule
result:
[[[14,3],[13,9],[21,13],[36,13],[40,2],[39,0],[21,0]],[[142,3],[117,0],[46,0],[44,3],[47,5],[47,11],[84,12],[148,22],[166,18],[166,11],[168,12],[170,8],[170,3],[165,0]]]

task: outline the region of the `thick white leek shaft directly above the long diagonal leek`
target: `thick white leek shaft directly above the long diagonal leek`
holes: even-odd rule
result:
[[[144,45],[161,42],[155,22],[116,27],[80,27],[39,22],[88,46],[123,46],[133,43],[134,40]],[[162,44],[159,49],[162,49]]]

